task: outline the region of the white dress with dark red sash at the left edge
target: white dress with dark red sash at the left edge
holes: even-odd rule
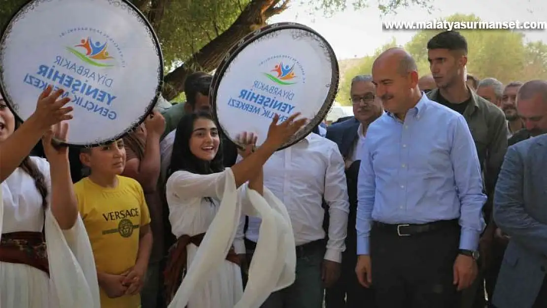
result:
[[[31,159],[51,196],[49,163]],[[82,219],[78,216],[72,229],[61,230],[49,206],[44,210],[34,180],[21,168],[1,184],[0,196],[0,307],[100,308],[95,261]]]

